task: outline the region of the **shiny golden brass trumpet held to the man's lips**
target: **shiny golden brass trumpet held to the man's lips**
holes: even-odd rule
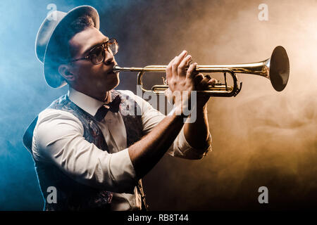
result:
[[[166,65],[148,65],[144,68],[121,68],[116,65],[113,72],[139,72],[137,75],[137,85],[143,92],[154,92],[155,94],[164,94],[168,89],[168,84],[156,84],[151,90],[144,89],[142,78],[146,72],[165,72]],[[242,82],[238,82],[236,73],[259,75],[271,80],[271,84],[276,91],[282,91],[287,85],[290,76],[290,61],[286,50],[282,46],[277,46],[271,54],[271,58],[257,62],[232,65],[197,65],[196,72],[223,72],[224,82],[218,82],[213,86],[209,85],[204,92],[209,96],[232,97],[237,96],[242,89]],[[232,86],[228,85],[227,73],[232,78]]]

